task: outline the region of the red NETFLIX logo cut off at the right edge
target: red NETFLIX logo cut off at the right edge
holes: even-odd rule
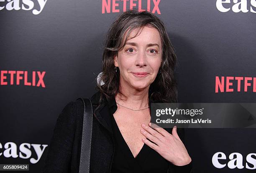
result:
[[[219,76],[215,77],[215,93],[218,93],[219,90],[223,92],[241,92],[241,86],[243,91],[247,92],[248,90],[256,92],[256,78],[252,77],[233,77],[233,76]]]

